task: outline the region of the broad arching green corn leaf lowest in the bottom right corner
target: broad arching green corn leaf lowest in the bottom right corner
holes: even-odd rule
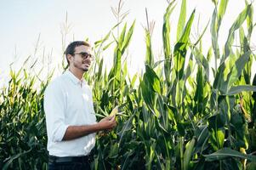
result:
[[[203,156],[206,158],[205,161],[219,161],[230,157],[247,159],[248,161],[256,161],[256,156],[245,155],[239,151],[231,150],[230,148],[223,148],[214,152],[213,154]]]

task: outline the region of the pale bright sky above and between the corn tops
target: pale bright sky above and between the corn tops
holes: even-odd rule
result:
[[[118,2],[118,0],[0,0],[0,81],[6,80],[10,63],[14,62],[13,68],[19,69],[28,56],[31,56],[32,59],[39,58],[37,62],[40,65],[45,65],[46,59],[41,59],[43,54],[44,56],[51,54],[51,62],[48,65],[51,67],[60,65],[63,53],[61,31],[64,30],[63,24],[66,14],[70,29],[65,38],[65,45],[72,40],[84,40],[86,37],[89,38],[90,42],[104,37],[111,30],[111,27],[117,24],[111,7],[117,8]],[[181,1],[177,0],[176,3],[176,8],[170,18],[173,47]],[[229,28],[244,6],[243,0],[230,0],[219,31],[220,48],[224,46]],[[145,8],[147,8],[149,20],[155,21],[152,34],[153,52],[155,56],[161,56],[162,21],[167,7],[167,0],[123,1],[122,11],[129,11],[124,21],[128,23],[128,26],[131,26],[136,20],[134,35],[128,48],[128,68],[131,74],[141,71],[144,67],[145,32],[143,26],[146,26]],[[255,2],[253,7],[256,8]],[[187,0],[187,20],[194,8],[196,8],[196,17],[191,30],[192,41],[196,40],[198,31],[202,32],[210,20],[213,14],[213,3],[211,0]],[[256,15],[254,14],[253,23],[255,23],[255,19]],[[198,26],[197,23],[199,23]],[[252,37],[254,47],[256,47],[255,29]],[[37,45],[38,37],[40,38]],[[202,38],[204,54],[207,54],[211,45],[210,37],[208,29]],[[112,51],[103,54],[106,62],[111,62]]]

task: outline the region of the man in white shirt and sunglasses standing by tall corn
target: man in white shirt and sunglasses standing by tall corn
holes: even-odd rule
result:
[[[71,42],[65,57],[69,69],[44,94],[48,169],[90,169],[88,155],[95,133],[115,127],[115,116],[96,122],[92,91],[82,77],[94,59],[90,44]]]

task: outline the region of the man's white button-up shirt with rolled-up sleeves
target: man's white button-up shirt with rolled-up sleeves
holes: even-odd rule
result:
[[[85,156],[94,148],[95,133],[62,141],[68,126],[96,123],[92,90],[71,71],[54,79],[44,93],[44,111],[51,156]]]

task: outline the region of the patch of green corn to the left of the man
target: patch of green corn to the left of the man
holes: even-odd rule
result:
[[[48,81],[38,85],[37,77],[24,69],[11,70],[10,77],[8,86],[1,90],[0,167],[45,169],[48,156],[43,91]]]

